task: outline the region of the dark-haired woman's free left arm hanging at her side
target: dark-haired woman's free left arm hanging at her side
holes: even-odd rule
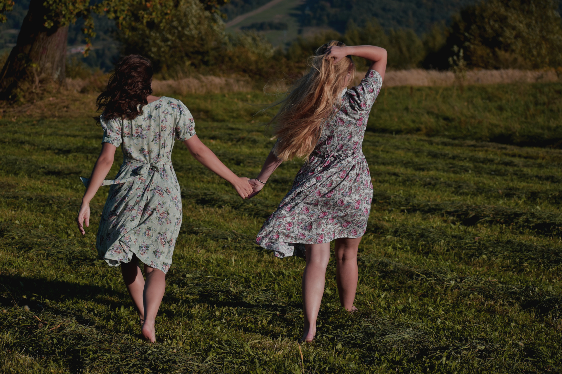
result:
[[[84,197],[82,197],[82,204],[80,205],[80,210],[78,211],[78,217],[76,218],[76,223],[78,223],[78,229],[80,233],[84,235],[86,232],[84,230],[84,221],[86,227],[90,225],[90,201],[96,195],[99,190],[99,186],[102,185],[103,179],[109,173],[111,166],[113,165],[113,159],[115,157],[116,146],[109,143],[102,143],[102,151],[94,165],[92,170],[92,176],[90,177],[90,182],[88,187],[86,187],[86,192],[84,192]]]

